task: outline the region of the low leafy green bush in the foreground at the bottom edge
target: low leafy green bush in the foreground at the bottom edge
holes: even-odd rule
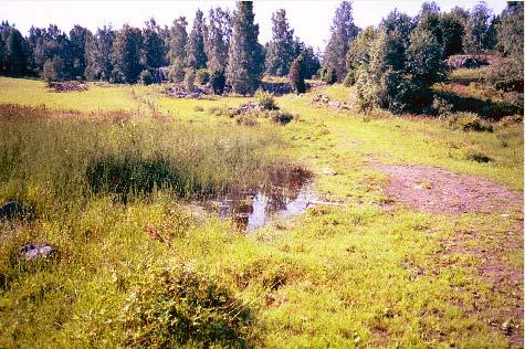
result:
[[[148,268],[122,315],[126,345],[244,347],[251,311],[210,277],[182,265]]]

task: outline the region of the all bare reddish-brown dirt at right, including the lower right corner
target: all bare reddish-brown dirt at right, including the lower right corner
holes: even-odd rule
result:
[[[501,219],[513,220],[504,233],[489,226],[458,231],[441,241],[442,251],[435,257],[438,265],[454,253],[474,257],[477,274],[491,285],[494,296],[503,300],[494,306],[476,299],[468,311],[492,311],[490,325],[508,336],[512,347],[523,348],[523,267],[511,263],[512,256],[521,255],[523,260],[523,195],[486,179],[440,168],[385,163],[372,167],[388,173],[385,192],[391,202],[387,207],[402,204],[417,211],[450,215],[500,213]],[[513,213],[517,216],[512,216]]]

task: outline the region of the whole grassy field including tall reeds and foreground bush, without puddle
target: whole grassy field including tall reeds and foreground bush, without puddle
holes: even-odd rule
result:
[[[523,240],[523,212],[385,210],[387,176],[370,166],[439,167],[522,193],[523,124],[464,131],[438,118],[315,107],[317,93],[351,91],[279,97],[292,123],[248,127],[208,110],[250,98],[172,99],[158,86],[59,94],[0,78],[0,103],[136,115],[0,116],[0,203],[36,211],[0,225],[0,347],[523,347],[523,244],[506,245]],[[338,205],[245,234],[188,202],[290,163],[335,171],[314,182]],[[92,168],[106,171],[98,187]],[[112,190],[111,173],[123,172],[135,184]],[[60,261],[18,262],[28,242],[59,246]],[[487,256],[522,278],[487,277]]]

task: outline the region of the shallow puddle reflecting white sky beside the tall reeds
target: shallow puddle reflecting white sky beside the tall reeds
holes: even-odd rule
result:
[[[313,191],[312,174],[301,169],[272,176],[271,184],[253,191],[233,191],[204,203],[222,219],[231,219],[253,232],[273,218],[288,218],[306,211],[317,197]]]

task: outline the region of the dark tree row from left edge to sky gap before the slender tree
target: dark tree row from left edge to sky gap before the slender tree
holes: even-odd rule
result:
[[[285,10],[273,13],[272,22],[273,39],[266,45],[259,43],[249,1],[238,2],[233,12],[210,9],[207,18],[197,10],[191,28],[179,17],[170,27],[149,19],[141,29],[125,24],[94,33],[81,25],[69,34],[54,24],[32,27],[24,38],[14,25],[2,22],[0,74],[134,84],[155,81],[159,67],[168,66],[174,82],[183,81],[189,71],[206,68],[210,78],[246,94],[259,87],[263,74],[286,76],[292,61],[302,55],[305,76],[314,75],[321,66],[318,55],[294,36]]]

